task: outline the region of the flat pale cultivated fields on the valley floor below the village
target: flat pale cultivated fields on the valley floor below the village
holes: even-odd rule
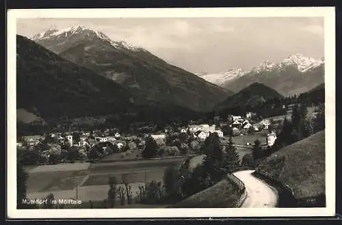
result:
[[[79,199],[86,202],[102,201],[107,198],[108,179],[111,176],[115,176],[118,183],[128,181],[134,196],[139,190],[138,187],[144,185],[145,180],[163,181],[165,168],[179,165],[183,159],[184,157],[38,166],[29,172],[27,197],[44,198],[53,193],[55,199],[75,198],[78,184]]]

